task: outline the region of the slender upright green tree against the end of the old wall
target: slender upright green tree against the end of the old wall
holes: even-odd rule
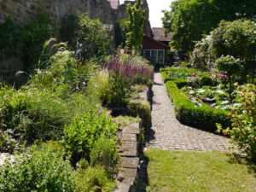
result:
[[[143,22],[145,20],[145,10],[141,8],[142,0],[137,0],[137,3],[131,7],[127,5],[128,14],[128,30],[126,45],[130,52],[138,52],[142,49],[143,42]]]

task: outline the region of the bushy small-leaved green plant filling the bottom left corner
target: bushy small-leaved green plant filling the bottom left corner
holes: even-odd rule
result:
[[[73,168],[58,143],[33,145],[0,166],[1,191],[74,191]]]

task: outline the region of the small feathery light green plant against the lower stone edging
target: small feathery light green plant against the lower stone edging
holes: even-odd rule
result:
[[[115,138],[99,137],[90,152],[90,164],[103,166],[107,172],[113,173],[117,171],[119,160]]]

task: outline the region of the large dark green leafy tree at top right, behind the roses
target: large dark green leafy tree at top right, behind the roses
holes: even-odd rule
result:
[[[164,11],[165,32],[173,32],[171,47],[189,54],[195,42],[218,26],[220,20],[253,19],[255,0],[177,0]]]

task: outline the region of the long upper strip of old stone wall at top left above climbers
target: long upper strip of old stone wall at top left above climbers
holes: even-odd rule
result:
[[[12,15],[20,23],[26,23],[37,15],[37,9],[48,12],[55,20],[64,15],[88,13],[102,23],[114,23],[116,15],[107,0],[0,0],[0,21]]]

